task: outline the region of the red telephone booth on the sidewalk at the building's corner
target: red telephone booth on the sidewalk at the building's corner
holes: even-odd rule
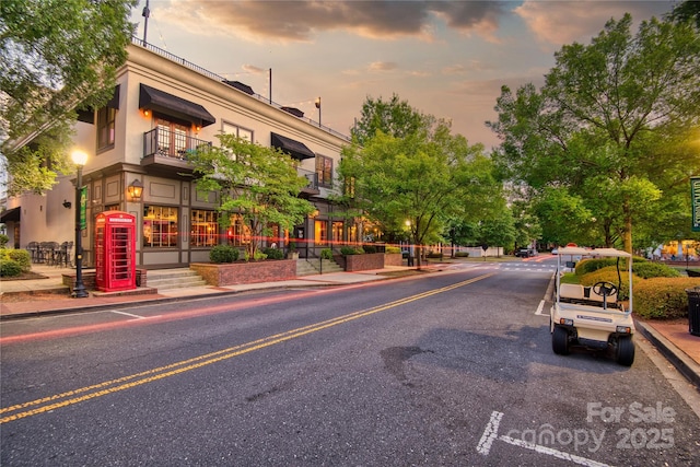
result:
[[[136,289],[136,218],[106,211],[95,220],[95,284],[104,292]]]

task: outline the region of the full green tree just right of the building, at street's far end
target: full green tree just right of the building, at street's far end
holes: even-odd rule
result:
[[[407,230],[419,252],[441,240],[450,219],[502,200],[482,147],[451,135],[444,121],[432,133],[421,128],[394,137],[378,130],[363,147],[343,149],[339,174],[354,187],[355,207],[387,230]]]

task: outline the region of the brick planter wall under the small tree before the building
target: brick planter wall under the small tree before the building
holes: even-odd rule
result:
[[[250,262],[192,262],[189,269],[196,271],[209,285],[235,285],[238,283],[271,282],[294,279],[296,261],[279,259]]]

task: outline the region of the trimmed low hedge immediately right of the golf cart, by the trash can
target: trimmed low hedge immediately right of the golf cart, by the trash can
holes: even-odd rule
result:
[[[700,287],[698,278],[653,278],[634,282],[634,315],[650,319],[688,316],[686,289]]]

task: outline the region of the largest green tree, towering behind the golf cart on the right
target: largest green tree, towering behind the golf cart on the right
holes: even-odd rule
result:
[[[591,45],[562,47],[541,92],[503,87],[499,120],[488,122],[502,139],[494,157],[504,174],[536,192],[567,187],[600,238],[621,238],[628,252],[632,221],[700,172],[687,150],[700,122],[700,35],[656,19],[632,35],[631,22],[610,20]]]

